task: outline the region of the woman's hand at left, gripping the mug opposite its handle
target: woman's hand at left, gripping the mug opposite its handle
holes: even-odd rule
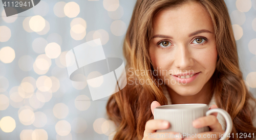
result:
[[[161,106],[159,102],[157,101],[153,101],[151,103],[151,111],[152,114],[154,115],[154,108],[156,108],[157,106]],[[156,130],[160,130],[160,129],[167,129],[169,128],[169,122],[165,121],[165,120],[148,120],[146,122],[146,126],[145,126],[145,131],[144,131],[144,135],[142,140],[147,140],[147,139],[157,139],[157,140],[161,140],[161,139],[182,139],[182,135],[179,135],[178,132],[156,132]],[[173,135],[173,136],[172,136]],[[175,138],[176,137],[178,138]],[[159,136],[159,137],[157,137]]]

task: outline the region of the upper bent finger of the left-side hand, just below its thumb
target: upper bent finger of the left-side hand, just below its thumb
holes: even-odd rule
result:
[[[148,120],[145,125],[145,134],[156,132],[156,130],[169,128],[169,122],[165,120]]]

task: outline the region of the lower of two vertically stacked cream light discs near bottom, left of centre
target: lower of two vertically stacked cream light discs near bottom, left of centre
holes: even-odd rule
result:
[[[66,120],[61,120],[61,121],[58,121],[57,124],[55,125],[55,130],[57,134],[61,136],[65,136],[70,133],[71,125]]]

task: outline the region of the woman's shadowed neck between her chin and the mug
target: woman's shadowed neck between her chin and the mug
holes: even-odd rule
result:
[[[211,79],[209,79],[202,90],[198,92],[195,95],[191,96],[182,96],[178,93],[176,93],[174,90],[166,86],[170,95],[170,99],[172,100],[172,104],[184,104],[184,103],[204,103],[204,104],[209,104],[213,91],[212,89],[212,84],[211,84]]]

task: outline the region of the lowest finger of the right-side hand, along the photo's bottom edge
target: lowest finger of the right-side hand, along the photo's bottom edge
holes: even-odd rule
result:
[[[193,138],[194,137],[194,138]],[[183,140],[210,140],[210,139],[220,139],[220,132],[203,132],[194,135],[187,135]]]

